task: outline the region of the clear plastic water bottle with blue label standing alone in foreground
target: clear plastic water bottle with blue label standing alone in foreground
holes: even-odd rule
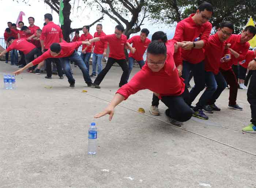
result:
[[[88,130],[88,154],[96,154],[97,149],[97,128],[95,123],[91,123]]]

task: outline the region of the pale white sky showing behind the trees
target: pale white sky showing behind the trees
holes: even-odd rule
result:
[[[35,18],[35,25],[42,28],[44,24],[45,13],[52,13],[53,22],[59,24],[59,15],[55,11],[52,11],[52,9],[48,5],[46,5],[43,0],[26,0],[26,2],[27,4],[22,2],[17,3],[16,0],[0,0],[2,17],[0,23],[0,38],[3,38],[4,30],[5,28],[7,28],[8,21],[16,23],[20,11],[23,11],[25,13],[25,16],[23,16],[23,22],[25,23],[25,26],[29,26],[27,18],[32,16]],[[86,7],[86,5],[82,3],[82,0],[79,1],[79,6],[81,8],[79,8],[78,10],[78,0],[75,1],[75,6],[73,5],[74,1],[70,2],[71,6],[75,7],[74,10],[71,9],[70,15],[70,19],[72,20],[72,28],[79,28],[84,25],[91,24],[99,17],[101,17],[98,11],[91,10],[90,8]],[[110,19],[107,15],[104,16],[104,20],[101,21],[101,24],[103,25],[103,31],[106,34],[113,34],[114,27],[117,25],[117,23]],[[153,24],[152,21],[149,20],[145,20],[144,24],[145,25],[141,26],[141,28],[147,28],[150,31],[150,35],[152,35],[155,31],[160,30],[166,32],[168,39],[172,38],[174,35],[175,28],[168,27],[166,26],[166,24]],[[94,32],[96,31],[95,28],[96,24],[90,28],[91,34],[94,34]],[[82,33],[82,31],[80,31],[80,33]]]

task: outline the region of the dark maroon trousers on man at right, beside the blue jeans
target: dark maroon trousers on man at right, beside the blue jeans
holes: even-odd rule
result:
[[[234,74],[232,68],[229,70],[219,69],[221,74],[225,78],[227,84],[230,86],[229,88],[229,105],[236,105],[237,101],[237,90],[238,90],[238,83],[236,75]]]

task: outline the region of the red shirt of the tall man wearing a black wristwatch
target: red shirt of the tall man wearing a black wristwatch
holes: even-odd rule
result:
[[[188,18],[181,20],[177,24],[173,40],[176,42],[193,42],[197,37],[200,37],[200,40],[203,40],[205,46],[210,36],[212,25],[209,21],[202,25],[197,25],[192,19],[193,15],[195,14],[191,14]],[[192,50],[181,49],[181,57],[189,63],[197,64],[204,60],[204,51],[203,48],[193,48]]]

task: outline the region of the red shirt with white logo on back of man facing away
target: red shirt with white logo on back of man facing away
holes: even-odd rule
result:
[[[60,43],[61,38],[63,38],[63,35],[60,26],[52,21],[43,27],[40,40],[44,40],[45,49],[49,49],[52,43]]]

